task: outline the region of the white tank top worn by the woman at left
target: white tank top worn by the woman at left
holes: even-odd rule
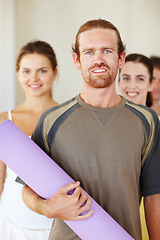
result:
[[[11,111],[8,117],[12,120]],[[1,196],[1,209],[15,225],[30,229],[50,229],[53,219],[31,211],[23,202],[23,185],[15,182],[17,175],[7,167],[4,190]]]

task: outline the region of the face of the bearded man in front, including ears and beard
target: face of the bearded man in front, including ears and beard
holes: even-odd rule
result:
[[[110,87],[121,65],[115,31],[98,28],[82,32],[79,46],[80,58],[76,55],[74,62],[85,83],[93,88]]]

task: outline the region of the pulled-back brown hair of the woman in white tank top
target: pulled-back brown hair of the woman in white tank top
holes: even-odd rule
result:
[[[56,59],[56,55],[53,48],[49,45],[49,43],[38,40],[38,41],[31,41],[21,48],[16,61],[17,72],[19,71],[20,62],[22,58],[25,55],[32,54],[32,53],[38,53],[47,57],[51,62],[53,71],[55,71],[57,67],[57,59]]]

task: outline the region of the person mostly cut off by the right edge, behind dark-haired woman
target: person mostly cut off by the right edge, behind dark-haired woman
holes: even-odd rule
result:
[[[150,57],[153,64],[153,89],[151,92],[151,108],[156,111],[160,117],[160,57]]]

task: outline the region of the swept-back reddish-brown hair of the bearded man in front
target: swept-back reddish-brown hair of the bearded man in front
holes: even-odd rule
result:
[[[86,23],[84,23],[78,30],[76,34],[76,40],[75,44],[72,46],[72,51],[75,52],[78,55],[78,58],[80,57],[80,52],[79,52],[79,37],[82,32],[92,30],[95,28],[102,28],[102,29],[111,29],[116,32],[117,35],[117,40],[118,40],[118,55],[120,56],[121,53],[125,50],[125,46],[122,42],[120,33],[118,29],[109,21],[106,21],[104,19],[95,19],[95,20],[90,20]]]

